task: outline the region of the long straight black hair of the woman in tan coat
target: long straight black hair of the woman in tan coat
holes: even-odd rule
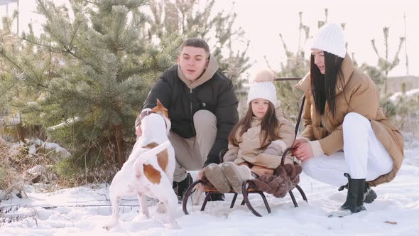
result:
[[[329,104],[330,112],[334,116],[336,114],[336,85],[339,78],[343,80],[342,76],[342,61],[337,55],[332,53],[325,53],[325,75],[320,73],[320,69],[315,64],[314,55],[311,55],[310,60],[310,77],[312,96],[314,98],[315,106],[320,114],[325,114],[325,104]]]

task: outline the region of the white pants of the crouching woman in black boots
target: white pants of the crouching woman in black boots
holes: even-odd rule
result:
[[[303,171],[311,178],[334,186],[344,186],[351,178],[374,181],[390,172],[393,160],[376,138],[371,122],[358,113],[348,113],[343,122],[344,151],[325,154],[304,161]]]

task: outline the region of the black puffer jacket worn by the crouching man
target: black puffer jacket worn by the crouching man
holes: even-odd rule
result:
[[[190,89],[178,77],[178,65],[164,71],[151,89],[143,109],[156,106],[156,99],[168,109],[171,131],[187,139],[195,136],[193,114],[206,109],[217,117],[217,137],[209,151],[205,166],[219,163],[219,152],[227,149],[228,136],[239,121],[237,104],[239,103],[232,81],[217,71],[202,85]]]

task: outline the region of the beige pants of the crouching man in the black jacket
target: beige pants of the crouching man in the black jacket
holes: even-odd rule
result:
[[[173,181],[183,181],[186,171],[202,168],[217,136],[217,118],[212,112],[199,110],[193,116],[196,136],[190,139],[170,132],[170,143],[175,149],[176,167]]]

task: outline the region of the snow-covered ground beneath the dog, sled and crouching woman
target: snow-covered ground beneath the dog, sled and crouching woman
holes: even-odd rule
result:
[[[176,218],[181,229],[170,229],[165,215],[151,207],[151,219],[138,213],[138,201],[127,196],[122,202],[120,225],[107,232],[102,229],[109,220],[111,207],[107,201],[107,186],[82,186],[54,193],[36,193],[28,187],[28,198],[2,201],[1,207],[11,208],[6,215],[34,215],[24,220],[0,223],[0,235],[419,235],[419,141],[406,139],[405,161],[396,179],[374,188],[379,197],[366,205],[368,211],[345,218],[328,218],[328,212],[342,205],[345,191],[314,181],[302,174],[300,186],[308,196],[305,203],[295,192],[299,208],[294,208],[290,197],[268,195],[272,213],[266,213],[258,195],[251,195],[262,218],[254,216],[241,197],[234,208],[229,204],[232,194],[224,202],[209,202],[204,212],[199,206],[189,206],[184,215],[178,205]],[[149,205],[155,205],[151,200]],[[75,207],[77,205],[77,207]],[[84,206],[80,205],[96,205]],[[102,206],[100,206],[102,205]],[[135,206],[131,206],[135,205]],[[46,206],[59,206],[45,209]],[[6,209],[6,208],[4,208]],[[13,212],[16,210],[16,212]]]

